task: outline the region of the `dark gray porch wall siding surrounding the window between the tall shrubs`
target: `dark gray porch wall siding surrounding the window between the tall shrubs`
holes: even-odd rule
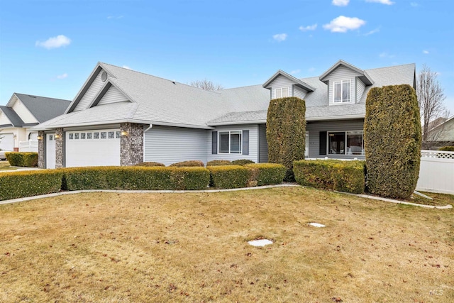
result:
[[[363,128],[364,119],[308,122],[306,131],[309,131],[309,158],[364,159],[365,157],[360,155],[320,155],[319,153],[321,131],[362,131]]]

